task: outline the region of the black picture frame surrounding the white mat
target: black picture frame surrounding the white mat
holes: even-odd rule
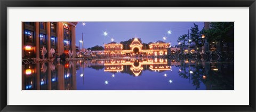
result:
[[[1,111],[255,111],[255,0],[0,0]],[[250,7],[250,105],[248,106],[9,106],[7,103],[7,7]],[[19,26],[17,26],[19,27]],[[239,97],[239,96],[238,96]]]

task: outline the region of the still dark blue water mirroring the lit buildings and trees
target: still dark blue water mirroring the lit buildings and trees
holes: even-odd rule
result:
[[[22,65],[22,90],[234,90],[234,62],[110,59]]]

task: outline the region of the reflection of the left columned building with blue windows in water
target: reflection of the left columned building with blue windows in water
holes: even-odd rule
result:
[[[76,65],[73,63],[22,65],[22,90],[76,90]]]

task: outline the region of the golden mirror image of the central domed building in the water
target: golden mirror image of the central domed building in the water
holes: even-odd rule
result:
[[[133,76],[140,76],[143,70],[165,71],[171,70],[167,59],[146,58],[146,59],[111,59],[105,60],[105,69],[110,73],[128,73]]]

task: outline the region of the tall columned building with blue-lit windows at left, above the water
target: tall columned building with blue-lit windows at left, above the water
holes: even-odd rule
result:
[[[42,48],[50,58],[53,48],[59,54],[76,52],[75,27],[78,22],[22,22],[22,58],[41,58]],[[73,54],[74,57],[76,53]]]

